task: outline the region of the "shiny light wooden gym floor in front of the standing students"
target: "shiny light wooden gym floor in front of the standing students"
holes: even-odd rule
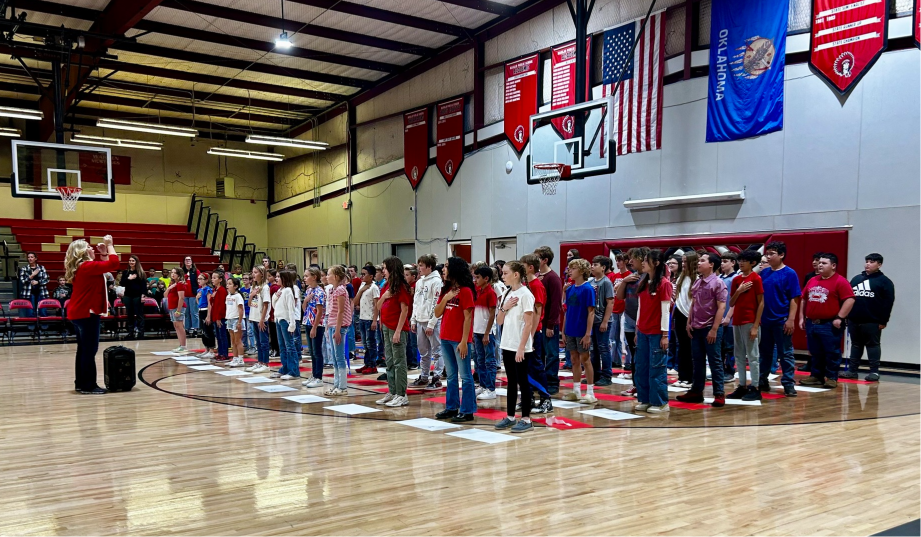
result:
[[[373,377],[295,403],[282,397],[322,389],[264,392],[149,354],[175,340],[128,344],[138,385],[104,396],[72,391],[74,344],[0,347],[0,534],[869,535],[921,509],[921,389],[886,377],[761,406],[582,414],[632,414],[615,384],[487,444],[446,433],[492,431],[505,397],[472,426],[423,430],[397,422],[433,417],[443,391],[349,416],[324,407],[376,407]]]

